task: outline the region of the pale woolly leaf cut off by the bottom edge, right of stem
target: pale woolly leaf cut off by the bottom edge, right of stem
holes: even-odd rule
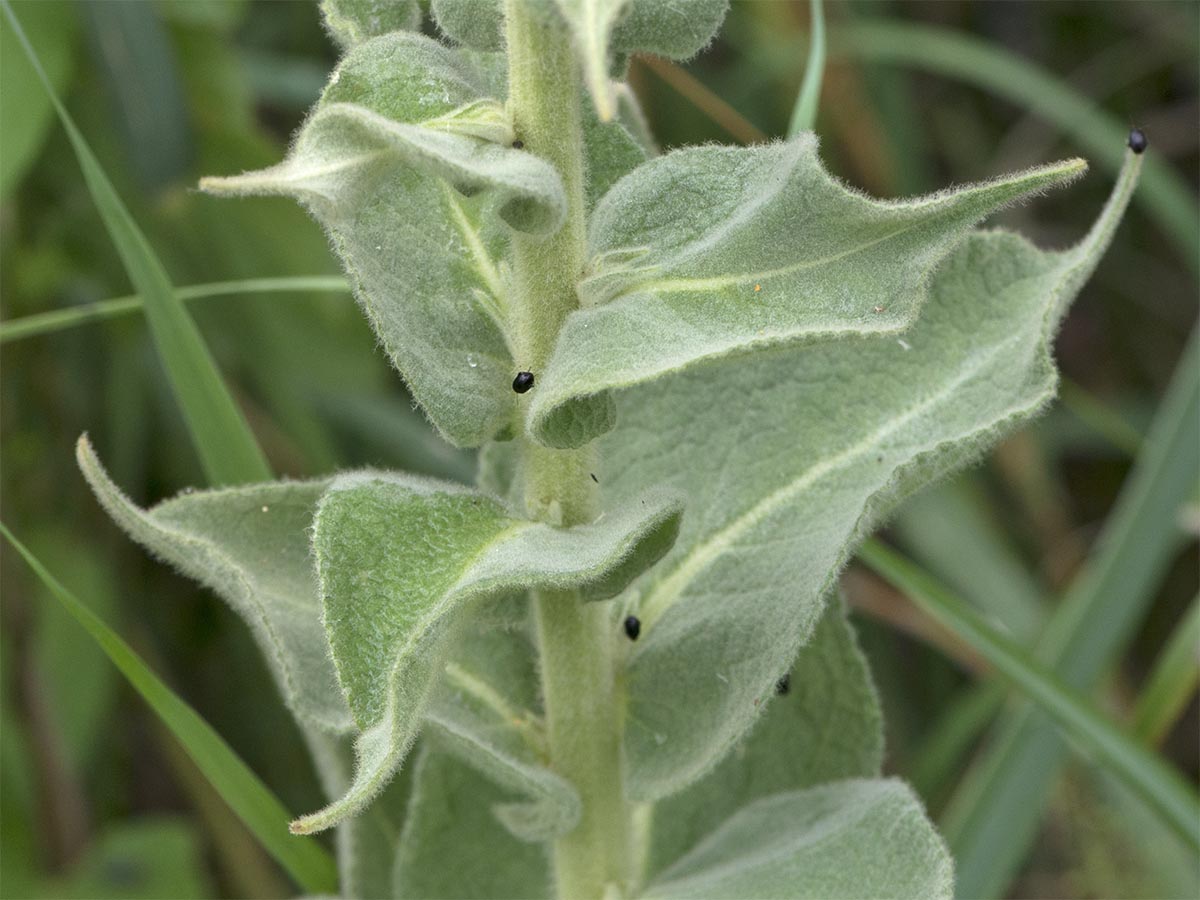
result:
[[[949,898],[954,865],[899,781],[774,794],[731,816],[643,896]]]

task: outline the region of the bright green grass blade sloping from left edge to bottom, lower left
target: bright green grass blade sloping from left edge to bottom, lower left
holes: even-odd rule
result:
[[[121,637],[50,575],[41,562],[0,523],[2,534],[30,569],[91,635],[134,690],[150,704],[217,793],[282,865],[310,894],[336,890],[332,858],[311,838],[288,834],[288,811],[258,776],[246,767],[224,739],[180,700]]]

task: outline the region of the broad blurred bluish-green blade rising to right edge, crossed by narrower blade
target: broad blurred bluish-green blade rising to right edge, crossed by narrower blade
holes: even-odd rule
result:
[[[1044,630],[1038,658],[1090,691],[1142,619],[1186,535],[1178,510],[1200,468],[1200,341],[1178,364],[1097,550]],[[959,786],[942,822],[964,896],[1001,894],[1037,833],[1066,748],[1045,716],[1024,708]]]

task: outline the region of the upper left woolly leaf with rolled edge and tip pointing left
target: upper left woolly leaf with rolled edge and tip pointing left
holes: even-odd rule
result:
[[[502,95],[486,60],[389,34],[347,54],[284,162],[202,181],[308,208],[413,396],[466,446],[514,415],[502,223],[545,234],[565,210],[554,169],[511,149]]]

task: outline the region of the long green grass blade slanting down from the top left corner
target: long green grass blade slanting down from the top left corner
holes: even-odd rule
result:
[[[4,12],[71,139],[88,190],[109,238],[116,245],[130,281],[145,300],[146,319],[155,346],[187,421],[205,475],[214,485],[270,480],[271,470],[266,457],[241,410],[229,396],[196,323],[175,295],[162,263],[121,203],[66,107],[54,94],[54,88],[7,0],[4,0]]]

